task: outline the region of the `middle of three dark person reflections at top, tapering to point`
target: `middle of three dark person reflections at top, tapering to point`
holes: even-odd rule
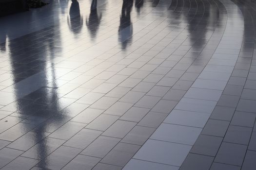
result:
[[[98,14],[97,11],[97,0],[93,0],[91,4],[91,12],[89,18],[86,18],[86,26],[89,30],[92,40],[94,40],[97,35],[101,17],[102,13],[100,12],[100,14]]]

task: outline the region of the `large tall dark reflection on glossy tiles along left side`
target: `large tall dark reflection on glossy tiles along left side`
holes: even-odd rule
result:
[[[59,13],[52,10],[49,16],[59,17]],[[7,28],[6,26],[5,30]],[[65,117],[68,109],[63,111],[65,101],[58,94],[56,75],[61,70],[54,68],[55,57],[62,53],[63,39],[60,35],[60,24],[56,23],[40,32],[14,40],[7,38],[7,42],[0,43],[0,51],[8,53],[14,96],[17,100],[11,103],[13,111],[16,111],[12,116],[24,122],[18,124],[19,133],[14,133],[11,137],[19,138],[21,134],[26,134],[27,142],[24,143],[34,141],[36,145],[31,146],[29,154],[32,158],[41,160],[41,168],[48,168],[47,159],[44,158],[57,149],[56,146],[61,145],[58,139],[47,138],[46,132],[53,132],[68,121]],[[31,131],[32,129],[34,130]],[[31,133],[27,133],[28,131]],[[56,145],[56,141],[60,144]]]

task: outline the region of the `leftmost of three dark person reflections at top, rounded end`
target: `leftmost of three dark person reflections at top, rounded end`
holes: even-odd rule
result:
[[[77,0],[72,0],[69,17],[68,17],[69,29],[76,35],[79,34],[83,26],[83,18],[80,15],[79,2]]]

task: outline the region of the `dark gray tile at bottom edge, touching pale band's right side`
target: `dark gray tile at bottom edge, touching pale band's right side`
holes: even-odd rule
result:
[[[189,153],[179,170],[209,170],[214,157]]]

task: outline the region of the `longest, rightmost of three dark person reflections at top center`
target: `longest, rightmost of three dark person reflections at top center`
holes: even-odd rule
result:
[[[120,17],[120,26],[118,29],[118,40],[125,49],[132,41],[133,24],[131,22],[131,11],[133,8],[133,0],[123,0],[122,12]]]

